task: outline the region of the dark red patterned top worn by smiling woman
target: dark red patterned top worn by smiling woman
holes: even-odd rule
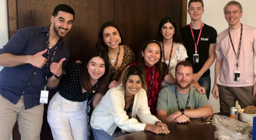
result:
[[[134,65],[136,65],[136,62],[131,63],[129,66],[134,66]],[[161,83],[164,81],[164,78],[162,78],[162,79],[159,78],[160,73],[156,67],[151,90],[150,90],[150,93],[148,93],[153,69],[154,69],[154,66],[146,66],[145,65],[145,78],[146,78],[146,82],[147,82],[147,102],[148,102],[148,106],[150,108],[151,114],[156,114],[157,98],[158,98],[158,94],[160,92]]]

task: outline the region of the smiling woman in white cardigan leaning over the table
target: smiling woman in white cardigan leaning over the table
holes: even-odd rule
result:
[[[142,130],[156,134],[170,133],[166,124],[151,115],[143,88],[146,88],[144,70],[139,66],[130,66],[125,71],[122,84],[110,89],[92,113],[95,140],[113,140]],[[137,115],[142,123],[135,119]]]

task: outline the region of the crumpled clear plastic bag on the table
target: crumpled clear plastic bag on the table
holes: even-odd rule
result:
[[[233,118],[214,115],[212,125],[216,126],[214,137],[219,140],[252,140],[252,126]]]

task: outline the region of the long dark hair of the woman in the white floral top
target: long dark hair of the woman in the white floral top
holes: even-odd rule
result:
[[[157,31],[157,41],[163,42],[163,34],[161,33],[161,30],[162,30],[162,27],[164,26],[164,24],[168,23],[168,22],[170,22],[174,27],[175,34],[173,34],[173,42],[183,44],[180,31],[178,30],[177,23],[173,20],[173,18],[170,18],[170,17],[164,17],[161,20],[159,27],[158,27],[158,31]]]

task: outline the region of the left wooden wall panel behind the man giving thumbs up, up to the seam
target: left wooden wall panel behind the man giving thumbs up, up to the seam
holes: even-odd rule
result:
[[[67,4],[75,10],[75,21],[64,38],[70,62],[85,60],[88,52],[95,49],[100,26],[114,21],[113,0],[17,0],[19,29],[50,25],[58,4]]]

